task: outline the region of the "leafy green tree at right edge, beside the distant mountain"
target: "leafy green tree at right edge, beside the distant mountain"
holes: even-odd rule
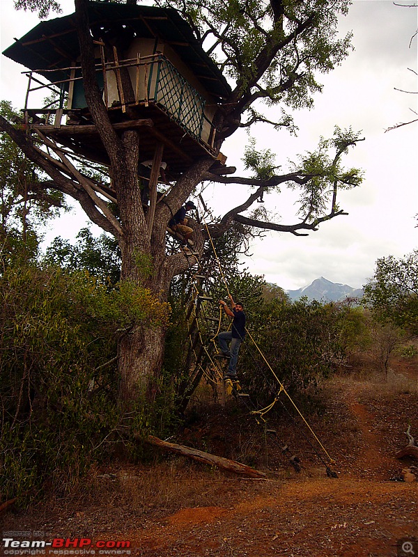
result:
[[[371,281],[364,286],[364,304],[376,318],[418,334],[418,250],[404,258],[380,258]]]

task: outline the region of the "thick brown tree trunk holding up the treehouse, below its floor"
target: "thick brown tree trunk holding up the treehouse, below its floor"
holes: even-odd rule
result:
[[[161,302],[167,301],[171,274],[165,265],[165,240],[160,237],[151,245],[146,216],[141,203],[138,180],[138,132],[125,132],[125,165],[123,173],[114,177],[121,212],[123,240],[122,281],[130,281],[150,292]],[[141,324],[121,337],[118,346],[118,371],[121,406],[146,397],[155,398],[156,379],[164,358],[165,327]]]

